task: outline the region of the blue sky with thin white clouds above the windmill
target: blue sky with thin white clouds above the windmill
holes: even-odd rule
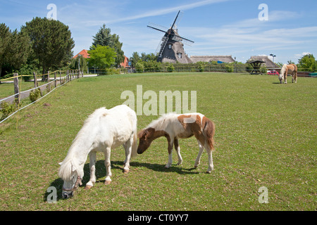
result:
[[[49,4],[56,5],[57,20],[70,27],[74,55],[89,49],[104,23],[119,35],[125,56],[152,53],[163,33],[147,25],[170,27],[181,10],[178,32],[194,41],[185,45],[189,56],[232,55],[243,63],[271,53],[281,63],[297,63],[306,53],[317,56],[316,0],[0,0],[0,23],[20,30],[32,18],[46,17]],[[259,20],[260,4],[268,6],[268,20]]]

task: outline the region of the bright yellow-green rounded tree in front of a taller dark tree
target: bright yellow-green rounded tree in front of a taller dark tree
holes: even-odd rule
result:
[[[89,65],[93,65],[99,69],[110,68],[116,63],[116,51],[109,46],[92,46],[88,51],[90,58]]]

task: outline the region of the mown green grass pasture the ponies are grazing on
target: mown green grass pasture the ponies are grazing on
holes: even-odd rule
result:
[[[217,73],[111,75],[76,79],[0,124],[1,210],[316,210],[316,84],[278,84],[276,76]],[[183,163],[168,160],[165,138],[132,159],[123,174],[123,147],[111,152],[112,183],[104,186],[104,155],[97,184],[61,199],[58,162],[95,109],[123,103],[125,90],[197,91],[197,111],[216,124],[214,170],[207,154],[194,169],[194,137],[180,140]],[[1,87],[0,87],[1,88]],[[1,90],[0,90],[1,92]],[[144,103],[147,100],[144,100]],[[44,106],[44,103],[49,105]],[[15,129],[18,117],[18,129]],[[142,129],[159,115],[139,115]],[[89,160],[83,184],[89,180]],[[46,189],[58,191],[47,203]],[[259,203],[259,188],[268,203]]]

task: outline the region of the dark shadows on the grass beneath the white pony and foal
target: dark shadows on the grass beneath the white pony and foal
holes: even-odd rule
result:
[[[170,168],[166,169],[165,165],[148,163],[148,162],[130,162],[130,167],[146,167],[156,172],[176,172],[178,174],[199,174],[199,172],[192,172],[195,168],[185,169],[178,165],[172,165]],[[111,161],[111,169],[121,169],[123,171],[123,161]],[[135,171],[137,173],[137,171]],[[84,166],[84,177],[82,178],[82,186],[79,188],[85,188],[85,185],[90,179],[89,176],[89,163]],[[98,160],[96,162],[96,183],[104,182],[106,177],[106,167],[104,165],[104,160]],[[57,191],[56,200],[64,200],[62,198],[63,180],[61,178],[55,179],[49,184],[49,187],[55,187]],[[52,192],[45,192],[43,201],[47,201],[47,197],[51,195]]]

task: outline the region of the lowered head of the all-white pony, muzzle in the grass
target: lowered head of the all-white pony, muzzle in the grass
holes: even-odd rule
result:
[[[64,160],[59,165],[61,167],[59,168],[58,176],[64,181],[62,197],[73,197],[73,191],[82,184],[84,169],[80,168],[75,160]]]

